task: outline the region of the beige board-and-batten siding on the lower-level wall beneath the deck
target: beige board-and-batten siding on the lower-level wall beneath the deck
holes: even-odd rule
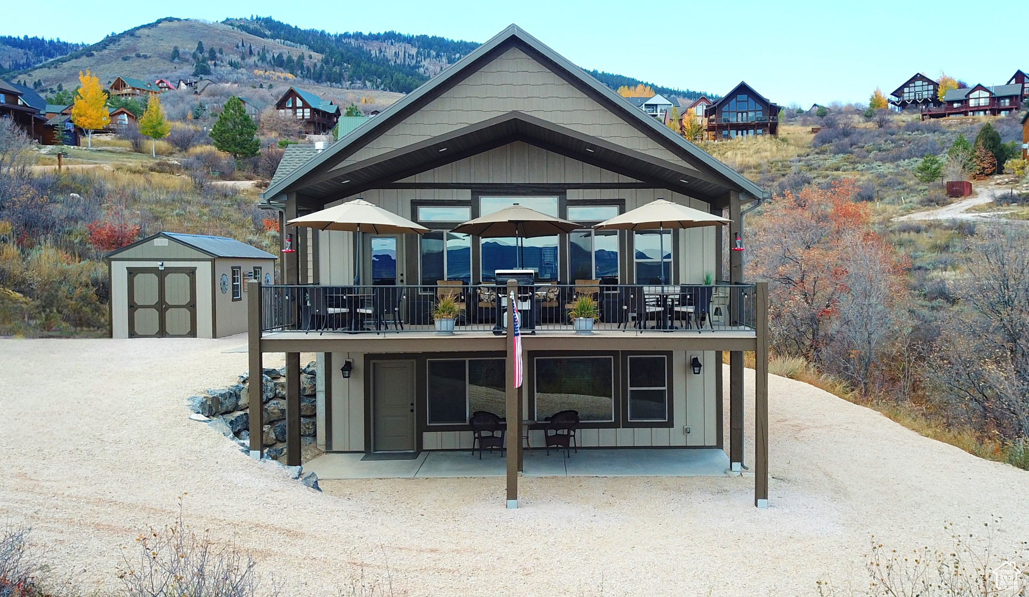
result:
[[[689,370],[689,362],[696,356],[703,364],[700,375]],[[347,359],[355,367],[349,379],[344,379],[340,365]],[[332,376],[331,396],[321,410],[331,412],[328,424],[322,422],[325,437],[329,438],[333,452],[364,451],[365,408],[364,397],[364,355],[360,352],[333,352],[332,368],[327,373]],[[672,411],[671,427],[623,427],[623,428],[580,428],[576,432],[581,447],[654,447],[654,446],[698,446],[718,445],[717,400],[714,391],[715,371],[720,364],[715,361],[712,350],[683,351],[672,353]],[[425,397],[417,397],[418,401]],[[528,412],[528,393],[523,393],[523,408]],[[501,414],[501,413],[498,413]],[[689,435],[685,427],[689,426]],[[321,432],[320,432],[321,433]],[[533,446],[542,446],[542,431],[530,432]],[[322,436],[319,443],[324,443]],[[422,448],[425,450],[471,449],[472,436],[466,432],[423,432]]]

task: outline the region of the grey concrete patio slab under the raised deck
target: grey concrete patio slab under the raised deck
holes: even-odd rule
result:
[[[503,477],[506,462],[499,452],[483,458],[470,451],[422,452],[413,460],[361,460],[364,454],[323,454],[304,465],[319,479],[413,479]],[[683,477],[722,476],[729,457],[717,448],[703,449],[580,449],[565,458],[563,451],[525,452],[524,475],[530,477]]]

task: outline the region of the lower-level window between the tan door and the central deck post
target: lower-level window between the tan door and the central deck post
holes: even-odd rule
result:
[[[504,416],[503,359],[432,359],[427,369],[430,425],[467,424],[480,410]]]

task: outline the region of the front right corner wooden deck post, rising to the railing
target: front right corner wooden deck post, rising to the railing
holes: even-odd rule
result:
[[[769,284],[757,283],[754,359],[754,506],[769,507]]]

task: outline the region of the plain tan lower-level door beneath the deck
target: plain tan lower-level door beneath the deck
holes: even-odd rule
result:
[[[371,363],[371,449],[415,450],[415,362]]]

